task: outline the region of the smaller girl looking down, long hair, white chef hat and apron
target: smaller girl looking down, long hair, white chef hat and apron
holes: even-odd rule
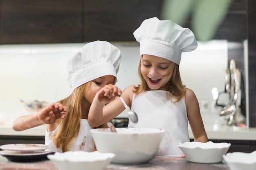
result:
[[[13,129],[22,131],[47,124],[45,144],[51,146],[47,150],[94,151],[89,131],[92,127],[87,120],[90,105],[102,87],[117,82],[120,62],[120,50],[109,42],[94,41],[85,44],[67,63],[72,94],[38,113],[17,118],[13,122]]]

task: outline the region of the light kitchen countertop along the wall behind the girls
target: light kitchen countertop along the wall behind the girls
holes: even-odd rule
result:
[[[27,129],[25,131],[14,131],[11,122],[0,125],[0,135],[19,135],[19,136],[45,136],[45,125]],[[227,126],[220,123],[204,122],[209,139],[227,139],[227,140],[255,140],[256,128],[239,128]],[[189,137],[193,139],[193,133],[189,126]]]

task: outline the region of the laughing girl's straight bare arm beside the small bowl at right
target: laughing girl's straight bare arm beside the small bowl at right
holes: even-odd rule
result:
[[[194,136],[195,142],[208,142],[208,137],[204,129],[204,124],[200,114],[198,100],[191,89],[186,88],[186,109],[189,118],[189,124]]]

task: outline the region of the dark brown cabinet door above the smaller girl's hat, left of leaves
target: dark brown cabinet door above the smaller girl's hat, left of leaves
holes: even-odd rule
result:
[[[84,41],[135,41],[141,22],[159,17],[162,0],[85,0]]]

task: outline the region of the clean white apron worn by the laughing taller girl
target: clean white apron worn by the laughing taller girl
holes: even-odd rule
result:
[[[189,142],[188,118],[183,98],[179,102],[171,102],[166,98],[166,91],[143,92],[132,102],[131,110],[137,113],[138,122],[135,124],[129,121],[129,128],[166,130],[157,156],[180,157],[182,155],[177,144]]]

